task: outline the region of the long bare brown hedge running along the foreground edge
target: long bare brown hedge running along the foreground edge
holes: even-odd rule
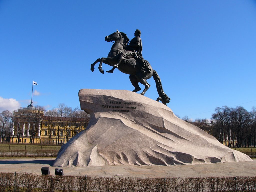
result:
[[[238,192],[256,191],[255,177],[117,178],[0,172],[0,191]]]

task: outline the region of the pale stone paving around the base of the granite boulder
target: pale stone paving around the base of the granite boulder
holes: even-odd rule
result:
[[[41,174],[41,167],[49,167],[50,175],[55,175],[55,158],[0,159],[1,172]],[[216,164],[179,166],[126,166],[107,165],[98,167],[62,168],[64,175],[119,176],[119,177],[235,177],[256,176],[256,159],[252,162],[225,162]]]

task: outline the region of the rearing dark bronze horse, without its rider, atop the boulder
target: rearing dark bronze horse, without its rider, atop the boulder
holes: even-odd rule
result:
[[[91,71],[94,71],[94,66],[96,63],[100,62],[99,70],[101,73],[104,73],[104,70],[102,69],[102,63],[105,63],[107,65],[112,66],[112,70],[106,71],[113,73],[113,70],[116,68],[115,64],[118,62],[118,56],[122,51],[125,51],[125,47],[129,42],[129,38],[127,35],[123,32],[119,32],[116,30],[116,32],[112,33],[109,36],[105,37],[105,41],[115,41],[113,46],[111,47],[111,50],[108,54],[107,58],[102,57],[101,59],[97,59],[94,63],[91,64]],[[149,64],[149,63],[148,63]],[[136,58],[131,60],[122,60],[119,66],[117,67],[119,71],[129,74],[130,81],[132,85],[134,86],[133,92],[140,91],[141,88],[139,86],[139,82],[145,86],[144,90],[141,92],[141,95],[144,95],[145,92],[150,88],[150,84],[146,81],[146,79],[149,79],[153,76],[155,82],[156,82],[156,89],[159,94],[159,98],[157,98],[157,101],[162,101],[163,104],[166,105],[166,103],[169,103],[170,98],[164,93],[161,80],[155,70],[152,69],[151,65],[148,66],[149,73],[145,74],[142,73],[141,69],[139,68],[139,62]]]

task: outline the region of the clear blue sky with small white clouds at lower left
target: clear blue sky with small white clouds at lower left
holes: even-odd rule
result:
[[[256,106],[256,1],[0,0],[0,112],[30,104],[33,80],[34,105],[48,110],[79,107],[80,89],[132,91],[127,74],[90,71],[116,29],[130,39],[141,30],[143,57],[180,117]],[[148,83],[145,96],[156,100],[154,79]]]

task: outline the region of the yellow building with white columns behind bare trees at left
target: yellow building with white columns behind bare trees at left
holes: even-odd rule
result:
[[[84,119],[45,116],[40,107],[28,105],[14,112],[12,120],[9,142],[65,144],[74,135],[86,129],[89,117]]]

